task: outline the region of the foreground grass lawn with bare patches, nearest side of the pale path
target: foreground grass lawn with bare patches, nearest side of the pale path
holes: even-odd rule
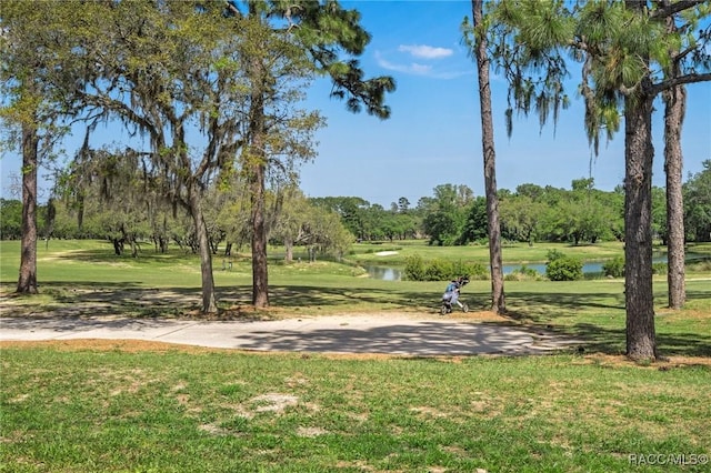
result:
[[[0,471],[708,471],[708,363],[138,349],[3,348]]]

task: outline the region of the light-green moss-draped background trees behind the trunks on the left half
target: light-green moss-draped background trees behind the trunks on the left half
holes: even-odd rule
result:
[[[99,239],[112,243],[117,255],[141,249],[168,252],[169,248],[198,253],[194,225],[182,209],[173,208],[150,192],[130,191],[136,180],[111,180],[98,175],[88,179],[74,195],[50,200],[38,207],[38,238]],[[77,194],[81,199],[77,199]],[[296,188],[270,190],[267,228],[273,244],[287,248],[286,259],[293,258],[294,246],[318,255],[342,255],[354,236],[334,212],[312,204]],[[114,195],[114,197],[110,197]],[[120,198],[118,197],[120,195]],[[129,198],[131,197],[131,198]],[[232,255],[249,246],[249,194],[241,187],[210,189],[204,197],[204,220],[212,254]],[[0,235],[3,240],[21,238],[22,203],[0,199]]]

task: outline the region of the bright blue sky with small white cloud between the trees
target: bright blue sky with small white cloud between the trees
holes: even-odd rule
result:
[[[356,195],[388,208],[399,198],[412,205],[431,197],[439,184],[465,184],[483,194],[481,125],[475,64],[461,44],[460,24],[471,17],[471,2],[343,1],[358,9],[372,41],[360,58],[369,77],[392,76],[392,117],[381,121],[346,110],[329,99],[326,79],[313,83],[308,108],[321,110],[328,127],[317,135],[318,157],[301,168],[301,188],[309,197]],[[505,134],[505,83],[492,76],[497,180],[500,189],[522,183],[570,189],[573,179],[592,177],[595,187],[612,190],[624,178],[624,134],[602,143],[594,158],[583,129],[583,104],[571,94],[558,127],[540,130],[538,118],[520,118]],[[571,89],[573,90],[573,89]],[[682,147],[684,179],[711,159],[711,84],[692,84]],[[653,133],[654,185],[664,185],[663,105],[658,103]],[[113,138],[112,138],[113,139]],[[79,141],[79,140],[76,140]],[[71,154],[71,150],[68,150]],[[21,160],[0,159],[2,197],[10,193]],[[42,172],[40,172],[42,174]],[[17,180],[17,179],[16,179]],[[44,197],[46,198],[46,197]],[[40,195],[42,200],[42,194]]]

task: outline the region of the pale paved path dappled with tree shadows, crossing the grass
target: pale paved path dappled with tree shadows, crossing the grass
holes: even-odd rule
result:
[[[149,340],[256,351],[468,355],[542,353],[571,341],[494,323],[403,315],[338,315],[267,322],[0,318],[0,341]]]

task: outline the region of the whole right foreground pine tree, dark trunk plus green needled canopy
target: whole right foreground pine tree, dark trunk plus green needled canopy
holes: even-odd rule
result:
[[[567,104],[569,58],[597,152],[601,131],[624,115],[624,241],[628,355],[657,358],[652,292],[652,113],[658,94],[711,80],[711,6],[689,1],[502,0],[492,4],[492,54],[509,81],[510,109],[541,124]],[[680,28],[670,28],[678,22]],[[675,72],[669,73],[671,66]]]

